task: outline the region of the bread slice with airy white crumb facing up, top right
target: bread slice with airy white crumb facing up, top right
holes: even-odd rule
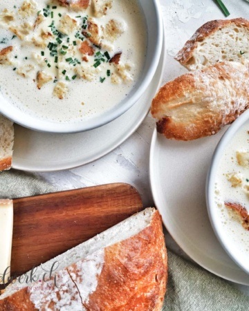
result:
[[[208,21],[196,30],[175,59],[189,70],[216,62],[243,62],[249,58],[249,21],[228,19]]]

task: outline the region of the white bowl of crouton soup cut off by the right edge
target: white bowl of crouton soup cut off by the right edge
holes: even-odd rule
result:
[[[249,273],[249,111],[230,126],[214,151],[206,200],[221,245]]]

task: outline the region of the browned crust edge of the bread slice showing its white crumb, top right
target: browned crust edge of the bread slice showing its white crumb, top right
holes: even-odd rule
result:
[[[249,21],[243,18],[237,19],[216,19],[214,21],[208,21],[208,23],[204,23],[199,29],[194,32],[194,35],[185,43],[183,48],[179,50],[177,55],[174,57],[178,62],[180,62],[183,66],[190,61],[190,59],[194,55],[194,50],[196,49],[197,45],[203,39],[209,37],[217,30],[224,28],[226,26],[230,26],[234,23],[235,26],[238,27],[245,27],[249,29]]]

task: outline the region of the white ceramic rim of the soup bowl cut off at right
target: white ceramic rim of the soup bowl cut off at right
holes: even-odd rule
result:
[[[230,258],[232,258],[232,260],[235,263],[237,263],[237,265],[239,265],[239,267],[241,267],[243,271],[249,274],[248,266],[245,267],[243,262],[241,262],[241,258],[237,256],[237,254],[230,252],[230,250],[228,249],[227,245],[228,243],[230,243],[230,241],[222,237],[221,230],[218,227],[218,223],[216,223],[216,215],[214,213],[216,209],[216,205],[214,203],[214,180],[216,178],[216,171],[219,167],[219,162],[221,160],[221,157],[223,156],[225,147],[227,147],[227,145],[234,137],[235,133],[237,133],[237,131],[241,129],[241,126],[243,126],[246,122],[249,122],[249,110],[244,112],[237,118],[237,120],[234,121],[234,123],[230,126],[230,128],[227,131],[225,131],[224,135],[219,141],[219,144],[217,144],[216,149],[214,150],[214,154],[212,156],[210,169],[208,171],[205,192],[206,192],[206,203],[208,207],[208,216],[210,218],[210,222],[214,230],[214,233],[216,234],[216,237],[221,243],[223,249],[225,249],[225,252],[227,252],[227,254],[230,256]]]

